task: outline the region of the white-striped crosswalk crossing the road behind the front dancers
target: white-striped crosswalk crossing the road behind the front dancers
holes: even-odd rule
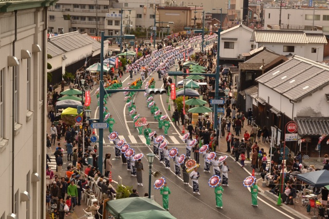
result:
[[[145,144],[146,139],[143,135],[119,135],[120,139],[125,139],[125,141],[129,144]],[[179,139],[178,136],[173,135],[167,135],[165,136],[166,141],[170,144],[185,144],[181,139]],[[114,145],[113,141],[110,141],[108,139],[103,139],[103,142],[105,141],[106,145]]]

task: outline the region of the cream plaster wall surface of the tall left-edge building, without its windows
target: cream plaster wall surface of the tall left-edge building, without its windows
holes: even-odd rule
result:
[[[14,192],[19,193],[17,218],[44,218],[44,170],[42,159],[45,142],[45,111],[43,107],[43,95],[45,94],[45,66],[44,53],[32,50],[32,44],[38,44],[46,51],[46,37],[43,38],[45,10],[44,8],[26,9],[17,11],[17,41],[15,43],[14,55],[19,60],[18,77],[18,100],[19,106],[18,123],[15,124],[14,138],[12,138],[12,76],[13,67],[8,66],[8,56],[13,55],[12,42],[14,40],[14,12],[2,12],[1,25],[1,48],[0,69],[4,71],[4,135],[0,136],[0,181],[2,186],[2,198],[0,200],[0,215],[7,216],[12,212],[11,194],[12,174],[14,176]],[[43,17],[44,16],[44,17]],[[45,35],[46,36],[46,35]],[[28,50],[31,58],[22,59],[21,50]],[[30,84],[27,85],[27,62],[30,60]],[[27,90],[29,89],[30,95]],[[28,108],[27,101],[30,101]],[[14,140],[14,141],[13,141]],[[14,143],[14,146],[13,146]],[[12,160],[12,149],[14,149],[14,160]],[[14,162],[13,162],[14,161]],[[12,165],[14,163],[14,172]],[[31,174],[38,173],[41,181],[31,182]],[[27,183],[27,176],[29,182]],[[27,188],[28,187],[28,188]],[[20,193],[29,190],[29,209],[27,202],[21,202]]]

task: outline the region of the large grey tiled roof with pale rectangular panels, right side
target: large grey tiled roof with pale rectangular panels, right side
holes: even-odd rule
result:
[[[256,81],[298,102],[329,85],[329,67],[294,55]]]

